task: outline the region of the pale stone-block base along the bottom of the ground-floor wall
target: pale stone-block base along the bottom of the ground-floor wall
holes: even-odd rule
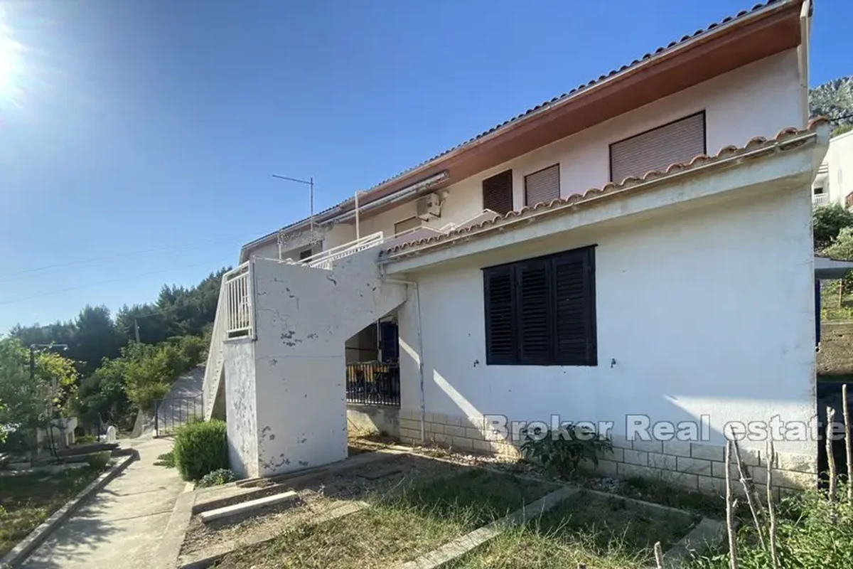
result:
[[[427,413],[427,441],[450,446],[462,452],[479,452],[518,457],[517,445],[502,433],[488,428],[482,417],[460,417]],[[421,444],[421,412],[419,409],[400,409],[400,441]],[[630,441],[612,436],[613,451],[601,453],[598,466],[583,465],[601,476],[614,478],[641,477],[663,479],[688,490],[718,494],[725,491],[724,448],[716,444],[682,441]],[[768,456],[763,450],[742,448],[743,461],[758,485],[767,484]],[[734,458],[732,459],[734,462]],[[734,479],[740,479],[737,467],[731,464]],[[773,485],[780,489],[801,490],[815,485],[816,457],[792,453],[777,453]],[[735,490],[740,489],[740,484]]]

